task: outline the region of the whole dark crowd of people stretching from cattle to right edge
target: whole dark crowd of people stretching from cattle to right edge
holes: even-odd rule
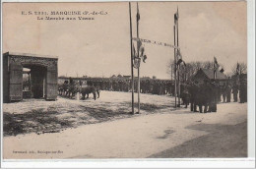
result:
[[[65,81],[65,84],[74,86],[75,81],[70,78],[69,81]],[[76,84],[81,87],[95,86],[98,90],[127,92],[131,91],[132,86],[130,79],[88,79],[76,81]],[[138,82],[135,80],[135,92],[138,92],[137,85]],[[168,94],[174,96],[174,89],[175,87],[172,81],[154,79],[140,81],[141,93]],[[247,84],[246,82],[234,83],[231,81],[223,83],[210,80],[205,80],[201,83],[194,81],[180,85],[180,98],[186,107],[190,104],[191,111],[197,112],[197,107],[199,107],[200,112],[216,112],[217,103],[231,102],[231,98],[233,102],[247,102]]]

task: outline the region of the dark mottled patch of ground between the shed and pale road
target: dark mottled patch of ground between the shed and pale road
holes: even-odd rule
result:
[[[136,103],[135,103],[136,104]],[[137,104],[136,104],[137,105]],[[141,104],[141,110],[152,114],[157,110],[170,106],[157,104]],[[22,114],[3,113],[4,136],[17,136],[27,133],[59,133],[67,128],[76,128],[86,124],[96,124],[121,118],[129,118],[131,103],[122,102],[116,105],[100,103],[100,105],[88,106],[82,104],[58,105],[56,107],[33,109]]]

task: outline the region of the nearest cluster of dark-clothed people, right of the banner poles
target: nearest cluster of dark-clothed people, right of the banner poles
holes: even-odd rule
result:
[[[186,106],[190,103],[191,111],[197,112],[197,107],[199,107],[201,113],[203,111],[205,113],[217,112],[217,104],[231,102],[231,98],[233,102],[247,102],[247,85],[246,83],[220,84],[207,80],[201,83],[195,81],[181,85],[180,97]]]

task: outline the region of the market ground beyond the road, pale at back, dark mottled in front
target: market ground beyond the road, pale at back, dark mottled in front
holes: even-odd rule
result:
[[[4,103],[4,136],[59,133],[81,125],[134,117],[131,115],[131,93],[101,91],[100,95],[96,100],[93,96],[86,100],[59,96],[57,101],[24,99],[22,102]],[[172,98],[168,96],[142,94],[142,98],[143,114],[166,108],[173,110]]]

